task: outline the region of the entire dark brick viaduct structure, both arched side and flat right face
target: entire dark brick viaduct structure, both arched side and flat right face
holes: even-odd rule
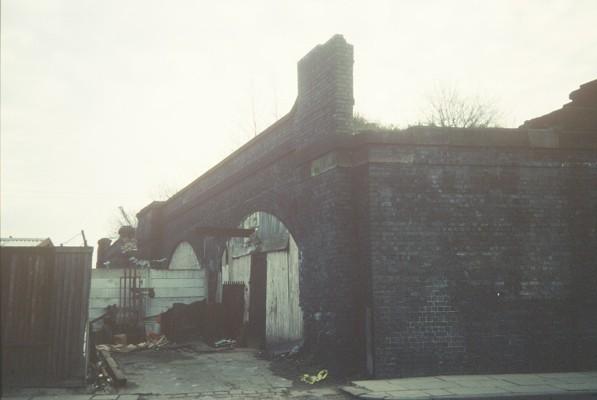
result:
[[[353,49],[298,65],[293,109],[139,213],[145,257],[265,211],[300,251],[306,348],[382,376],[597,368],[597,127],[354,131]],[[370,318],[367,319],[367,315]]]

